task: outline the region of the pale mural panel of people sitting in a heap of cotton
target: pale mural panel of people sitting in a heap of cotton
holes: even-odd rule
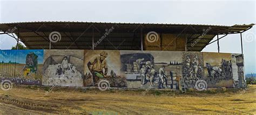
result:
[[[84,50],[44,50],[43,85],[83,86]]]

